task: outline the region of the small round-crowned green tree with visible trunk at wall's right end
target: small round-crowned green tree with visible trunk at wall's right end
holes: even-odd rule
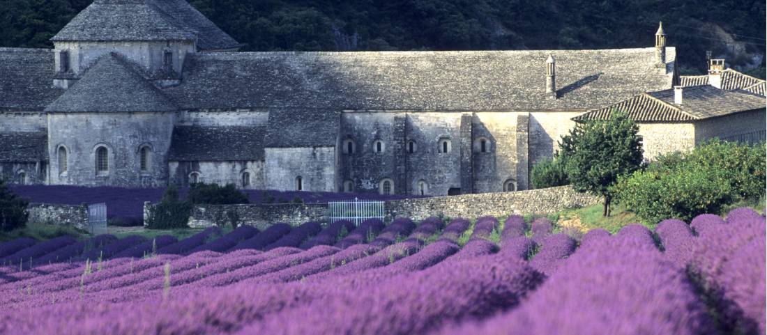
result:
[[[643,153],[637,124],[618,110],[611,115],[610,120],[579,123],[559,143],[571,185],[604,198],[604,216],[610,215],[611,186],[618,176],[640,168]]]

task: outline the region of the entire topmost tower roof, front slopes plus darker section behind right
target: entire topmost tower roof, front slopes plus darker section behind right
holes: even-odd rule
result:
[[[96,0],[51,41],[189,41],[199,50],[241,44],[184,0]]]

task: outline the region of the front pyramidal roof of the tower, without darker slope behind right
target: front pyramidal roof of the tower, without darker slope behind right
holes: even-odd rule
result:
[[[186,41],[197,35],[145,0],[96,0],[51,41]]]

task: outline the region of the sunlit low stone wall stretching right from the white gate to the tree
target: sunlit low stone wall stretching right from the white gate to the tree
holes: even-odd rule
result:
[[[386,209],[388,218],[422,220],[435,215],[478,218],[483,215],[548,214],[565,208],[594,205],[600,201],[600,198],[593,195],[575,192],[570,186],[559,186],[518,192],[393,200],[387,202]]]

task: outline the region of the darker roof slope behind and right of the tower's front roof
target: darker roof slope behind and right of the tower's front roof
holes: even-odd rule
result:
[[[185,0],[148,0],[147,2],[176,19],[179,25],[193,30],[197,35],[199,50],[225,50],[242,46]]]

